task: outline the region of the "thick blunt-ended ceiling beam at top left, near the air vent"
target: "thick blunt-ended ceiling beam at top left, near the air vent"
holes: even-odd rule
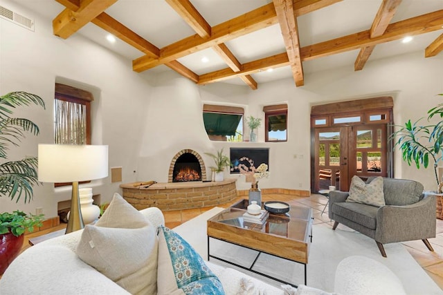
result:
[[[95,19],[117,0],[82,0],[77,11],[65,8],[53,19],[54,35],[66,39]]]

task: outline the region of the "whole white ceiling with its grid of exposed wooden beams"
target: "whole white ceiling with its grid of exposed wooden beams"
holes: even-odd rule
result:
[[[174,70],[202,85],[255,89],[292,77],[301,87],[318,70],[443,49],[443,0],[15,1],[52,21],[55,35],[83,35],[138,73]]]

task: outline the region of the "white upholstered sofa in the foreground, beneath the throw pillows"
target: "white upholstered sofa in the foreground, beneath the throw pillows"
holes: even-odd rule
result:
[[[152,207],[142,210],[141,213],[155,227],[164,225],[163,214],[159,209]],[[24,251],[3,274],[0,280],[0,294],[129,294],[114,281],[87,265],[78,257],[75,249],[81,235],[82,230],[75,231],[71,234],[46,240]],[[283,288],[271,286],[235,269],[221,267],[210,262],[206,263],[221,281],[226,294],[296,294],[294,289],[285,293]],[[340,271],[343,272],[343,276],[336,274],[336,285],[344,291],[342,294],[371,294],[374,291],[374,285],[365,285],[365,282],[373,283],[373,278],[368,280],[368,277],[362,274],[364,269],[359,272],[361,276],[356,280],[349,277],[352,276],[353,269],[360,268],[361,263],[361,260],[358,263],[348,262]],[[384,266],[381,265],[381,267]],[[380,274],[379,269],[374,272],[374,274],[377,273]],[[383,272],[380,275],[386,276]],[[354,285],[346,282],[351,282]],[[239,292],[242,286],[243,292]],[[400,289],[402,289],[401,284],[398,286],[397,283],[397,285],[392,286],[394,290],[397,290],[395,293],[399,294]],[[248,290],[248,287],[251,287],[253,291],[249,292],[251,289]],[[306,287],[305,289],[299,287],[297,294],[327,294],[318,289],[306,289]],[[386,294],[393,293],[387,292]]]

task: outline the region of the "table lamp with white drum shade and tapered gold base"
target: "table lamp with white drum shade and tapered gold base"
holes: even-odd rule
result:
[[[72,182],[71,213],[66,234],[84,228],[78,182],[108,175],[108,146],[39,144],[38,174],[41,182]]]

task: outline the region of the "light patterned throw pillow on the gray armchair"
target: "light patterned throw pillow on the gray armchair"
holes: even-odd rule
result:
[[[375,207],[384,206],[383,178],[377,177],[369,184],[365,184],[359,176],[354,175],[346,202],[368,204]]]

